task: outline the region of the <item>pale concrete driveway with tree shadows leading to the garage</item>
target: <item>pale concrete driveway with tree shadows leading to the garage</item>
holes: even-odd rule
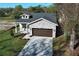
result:
[[[18,56],[52,56],[52,38],[33,36]]]

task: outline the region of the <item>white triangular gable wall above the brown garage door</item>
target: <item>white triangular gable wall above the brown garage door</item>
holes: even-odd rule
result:
[[[55,23],[52,23],[48,20],[41,20],[39,22],[30,25],[31,28],[46,28],[46,29],[51,29],[54,26],[56,26]]]

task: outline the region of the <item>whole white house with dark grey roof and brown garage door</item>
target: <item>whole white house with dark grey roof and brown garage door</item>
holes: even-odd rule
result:
[[[41,36],[53,37],[56,36],[56,14],[53,13],[24,13],[20,19],[16,20],[15,33],[26,33],[25,37]]]

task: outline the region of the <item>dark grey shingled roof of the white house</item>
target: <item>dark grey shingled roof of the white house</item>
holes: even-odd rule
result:
[[[47,20],[57,24],[56,14],[54,14],[54,13],[31,13],[30,15],[32,15],[32,18],[30,18],[30,19],[21,19],[20,18],[20,19],[17,19],[16,22],[30,23],[32,21],[39,19],[39,18],[44,18],[44,19],[47,19]]]

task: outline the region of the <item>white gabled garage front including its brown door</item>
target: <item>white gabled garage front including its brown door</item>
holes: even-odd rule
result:
[[[46,19],[30,24],[29,28],[32,36],[55,38],[56,35],[56,24]]]

